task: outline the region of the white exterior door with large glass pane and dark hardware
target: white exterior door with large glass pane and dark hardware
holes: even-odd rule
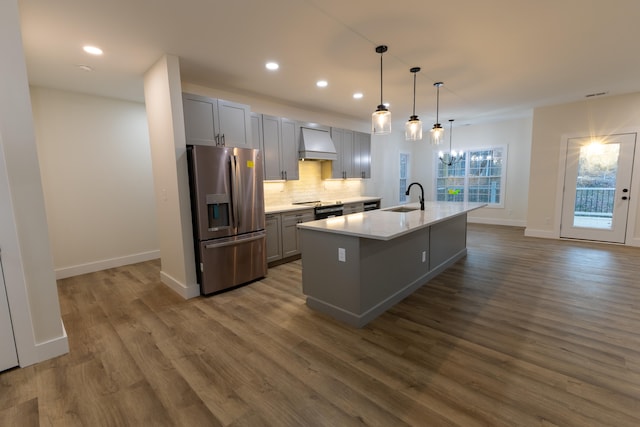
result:
[[[624,243],[636,134],[567,142],[560,237]]]

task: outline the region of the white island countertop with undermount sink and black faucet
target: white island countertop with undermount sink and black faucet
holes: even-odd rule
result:
[[[391,240],[420,228],[462,215],[486,206],[486,203],[424,202],[394,206],[368,212],[354,213],[334,218],[320,219],[298,224],[298,228],[364,237],[367,239]],[[411,212],[391,212],[395,208],[416,208]]]

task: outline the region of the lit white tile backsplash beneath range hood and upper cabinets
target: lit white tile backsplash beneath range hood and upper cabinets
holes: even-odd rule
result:
[[[266,206],[288,205],[310,200],[341,200],[362,195],[359,179],[322,180],[320,161],[298,162],[300,179],[296,181],[265,182]]]

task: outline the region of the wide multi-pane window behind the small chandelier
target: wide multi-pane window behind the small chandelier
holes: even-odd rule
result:
[[[451,166],[436,157],[436,200],[504,206],[507,147],[470,150]]]

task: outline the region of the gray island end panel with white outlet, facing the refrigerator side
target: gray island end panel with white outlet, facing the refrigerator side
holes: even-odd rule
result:
[[[334,307],[336,313],[332,314],[335,316],[339,311],[358,313],[361,296],[360,239],[306,229],[299,231],[302,292],[307,295],[307,304],[314,307],[314,302],[322,303],[325,310]],[[344,249],[345,261],[338,259],[340,248]]]

